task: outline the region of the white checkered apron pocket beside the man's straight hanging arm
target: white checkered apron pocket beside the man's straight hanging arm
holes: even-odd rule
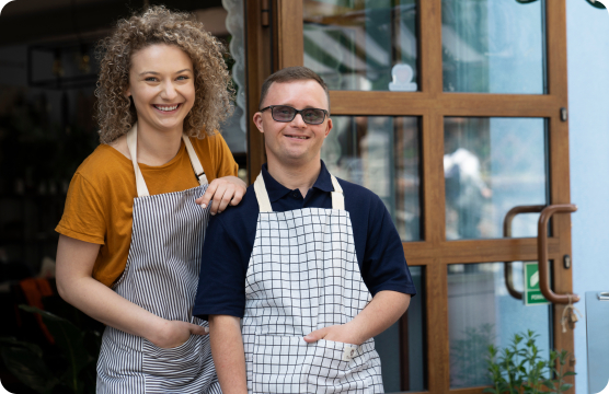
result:
[[[256,335],[252,355],[254,393],[304,393],[302,368],[310,347],[300,336]]]

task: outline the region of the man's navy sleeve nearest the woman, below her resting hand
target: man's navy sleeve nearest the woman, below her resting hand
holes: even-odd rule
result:
[[[249,256],[243,242],[226,229],[222,217],[211,218],[205,235],[200,275],[193,314],[203,320],[211,315],[243,317],[245,274]],[[251,251],[250,251],[251,252]]]

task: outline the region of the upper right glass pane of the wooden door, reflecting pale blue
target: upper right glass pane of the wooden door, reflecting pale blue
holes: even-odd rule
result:
[[[443,0],[445,92],[545,93],[543,0]]]

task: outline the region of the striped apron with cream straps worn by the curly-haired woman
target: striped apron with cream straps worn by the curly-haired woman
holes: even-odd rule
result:
[[[207,189],[207,177],[184,136],[200,186],[150,196],[136,158],[137,126],[127,134],[138,198],[127,265],[113,289],[125,299],[166,320],[200,326],[192,314],[209,208],[195,199]],[[221,393],[208,336],[191,335],[171,349],[107,326],[97,361],[97,393]]]

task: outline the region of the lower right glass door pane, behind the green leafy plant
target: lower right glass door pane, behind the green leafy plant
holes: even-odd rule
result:
[[[512,264],[514,287],[524,291],[522,263]],[[491,384],[489,345],[505,348],[514,334],[533,331],[544,359],[550,355],[550,305],[525,306],[509,296],[504,263],[448,266],[451,389]]]

